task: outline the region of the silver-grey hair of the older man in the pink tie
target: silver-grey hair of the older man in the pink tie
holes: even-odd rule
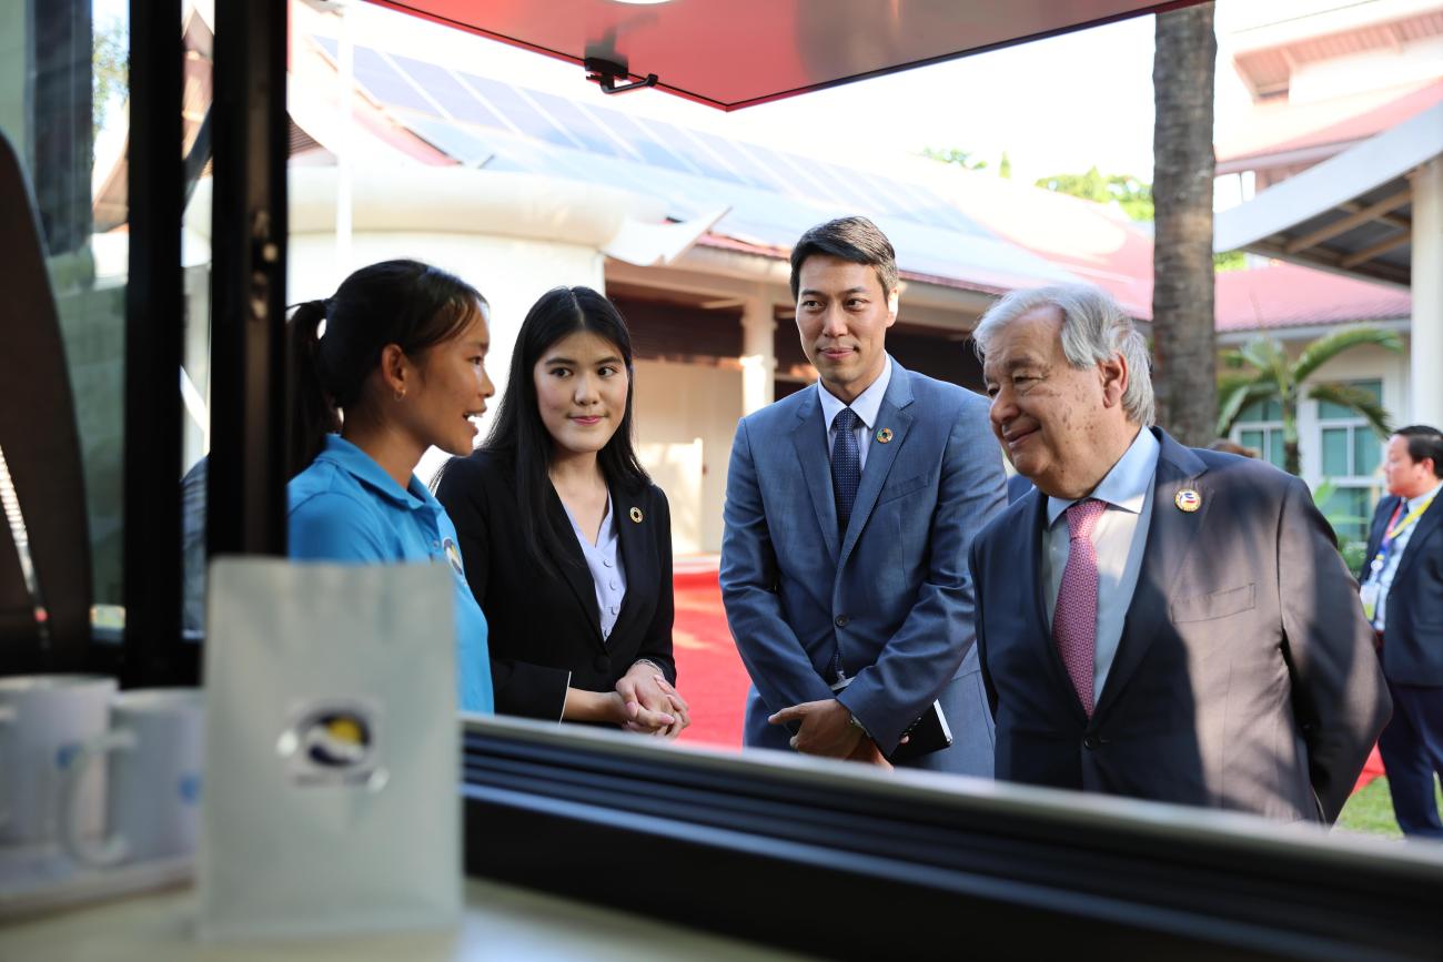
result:
[[[1137,424],[1152,427],[1156,405],[1147,340],[1133,319],[1101,287],[1058,284],[1006,294],[977,322],[973,332],[977,355],[984,358],[987,346],[1003,327],[1039,307],[1056,307],[1062,312],[1062,353],[1074,368],[1091,368],[1110,361],[1114,353],[1123,355],[1127,362],[1123,410]]]

